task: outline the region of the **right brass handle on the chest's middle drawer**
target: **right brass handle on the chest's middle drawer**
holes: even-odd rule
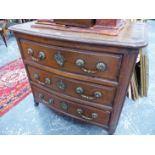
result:
[[[94,92],[94,96],[84,95],[83,94],[84,93],[84,89],[82,87],[77,87],[76,88],[76,93],[79,94],[82,98],[85,98],[85,99],[88,99],[88,100],[94,100],[94,99],[102,97],[102,93],[99,92],[99,91],[95,91]]]

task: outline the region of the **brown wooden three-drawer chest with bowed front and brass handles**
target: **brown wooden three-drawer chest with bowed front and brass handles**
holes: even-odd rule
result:
[[[35,104],[101,126],[117,126],[145,26],[128,24],[118,36],[12,26]]]

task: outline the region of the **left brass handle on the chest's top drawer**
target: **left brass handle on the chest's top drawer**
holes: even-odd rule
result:
[[[37,61],[37,62],[38,62],[38,61],[44,60],[44,59],[46,58],[45,53],[42,52],[42,51],[39,52],[38,58],[34,57],[34,56],[33,56],[33,55],[34,55],[34,52],[33,52],[32,48],[28,48],[27,53],[28,53],[28,55],[31,56],[31,59],[32,59],[33,61]]]

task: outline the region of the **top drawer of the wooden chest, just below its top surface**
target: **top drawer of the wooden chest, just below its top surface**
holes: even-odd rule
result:
[[[48,46],[21,40],[24,59],[59,70],[117,81],[121,55]]]

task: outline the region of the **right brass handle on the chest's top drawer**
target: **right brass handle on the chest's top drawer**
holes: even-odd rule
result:
[[[82,59],[77,59],[75,62],[76,66],[79,67],[83,72],[94,74],[96,72],[104,72],[107,68],[106,64],[104,62],[98,62],[96,64],[96,70],[90,70],[85,68],[85,61]]]

